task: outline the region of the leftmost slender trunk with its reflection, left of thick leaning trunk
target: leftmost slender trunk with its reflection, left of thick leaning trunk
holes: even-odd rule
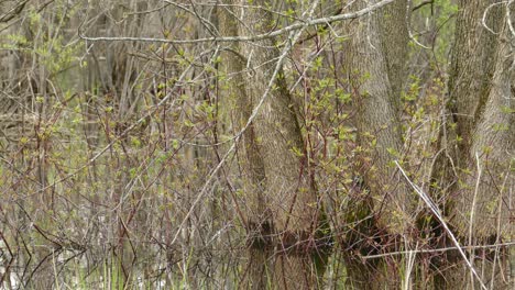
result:
[[[228,1],[227,4],[234,4],[237,1]],[[234,14],[234,9],[230,5],[217,8],[219,32],[224,36],[238,35],[238,19]],[[238,133],[245,124],[252,113],[254,101],[245,91],[245,80],[242,74],[244,70],[244,60],[239,55],[240,45],[230,43],[221,53],[222,62],[220,63],[221,71],[224,74],[226,81],[221,81],[222,89],[227,90],[228,94],[220,101],[219,111],[222,120],[232,119],[233,134]],[[249,274],[245,276],[242,283],[249,289],[264,289],[266,286],[266,274],[270,271],[266,266],[266,256],[270,254],[267,249],[258,248],[261,235],[266,235],[266,224],[261,224],[265,216],[264,200],[263,200],[263,182],[265,171],[263,159],[258,148],[254,124],[250,124],[243,133],[238,146],[238,156],[242,168],[242,186],[243,186],[243,202],[245,207],[242,216],[248,223],[249,234]],[[238,201],[237,201],[238,202]]]

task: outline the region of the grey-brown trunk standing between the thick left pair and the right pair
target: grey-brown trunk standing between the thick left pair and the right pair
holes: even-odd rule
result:
[[[399,3],[396,8],[404,11],[406,1],[397,2]],[[387,19],[391,22],[395,22],[392,19],[395,14],[394,8],[387,10]],[[403,21],[397,22],[403,26],[398,27],[399,35],[406,26],[405,18],[402,15],[405,13],[401,11],[399,18]],[[360,143],[365,150],[370,150],[363,158],[361,174],[365,177],[365,183],[372,193],[374,212],[380,216],[381,225],[390,227],[393,232],[403,233],[409,202],[404,182],[393,165],[394,160],[401,159],[403,153],[397,114],[399,103],[397,99],[401,98],[398,90],[402,83],[401,79],[395,80],[397,82],[395,85],[397,94],[395,94],[390,75],[402,74],[402,59],[405,55],[399,52],[406,49],[396,46],[406,46],[406,40],[398,36],[396,41],[392,41],[382,36],[380,23],[386,18],[384,13],[382,10],[376,11],[373,15],[362,18],[352,24],[355,34],[350,41],[350,82],[358,110],[357,126],[361,136]],[[392,59],[386,62],[388,55]]]

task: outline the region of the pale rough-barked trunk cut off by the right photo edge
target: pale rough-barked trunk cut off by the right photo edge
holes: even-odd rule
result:
[[[478,238],[513,235],[515,230],[508,216],[514,205],[509,199],[514,185],[509,156],[515,156],[514,54],[509,42],[505,37],[501,40],[492,89],[476,116],[468,152],[468,169],[474,174],[463,177],[468,187],[459,191],[457,221],[461,222],[457,224],[460,228],[471,228]],[[474,168],[476,163],[481,176]],[[473,188],[475,183],[478,188]]]

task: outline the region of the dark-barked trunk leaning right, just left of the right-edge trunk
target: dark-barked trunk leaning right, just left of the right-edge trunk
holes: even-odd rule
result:
[[[495,35],[481,22],[484,10],[494,2],[459,2],[448,81],[448,111],[442,116],[446,126],[440,132],[440,146],[446,154],[439,155],[432,175],[436,185],[442,186],[437,190],[441,197],[451,191],[448,186],[456,179],[458,169],[467,166],[463,157],[470,148],[474,113],[480,100],[484,103],[491,87],[497,43]],[[494,9],[487,14],[486,24],[498,31],[501,20],[501,11]]]

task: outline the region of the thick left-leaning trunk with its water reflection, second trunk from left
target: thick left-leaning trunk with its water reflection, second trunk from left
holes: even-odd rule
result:
[[[267,7],[266,1],[256,5]],[[272,5],[276,3],[272,2]],[[275,27],[273,14],[266,10],[245,11],[242,35],[266,33]],[[246,27],[255,27],[246,31]],[[280,51],[275,38],[243,46],[249,71],[246,94],[256,104],[267,90],[274,75]],[[263,158],[265,190],[263,200],[266,215],[254,223],[267,225],[273,233],[273,287],[280,289],[309,289],[318,286],[320,263],[326,259],[324,249],[317,248],[320,200],[309,175],[309,163],[300,126],[287,91],[284,74],[277,74],[274,88],[264,100],[254,120],[256,143]],[[256,197],[259,198],[259,197]],[[324,268],[324,267],[322,267]]]

